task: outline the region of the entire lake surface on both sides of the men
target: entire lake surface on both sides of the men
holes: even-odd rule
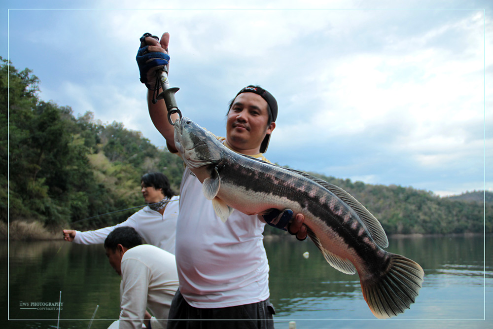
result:
[[[492,236],[390,238],[386,250],[415,260],[425,273],[416,303],[390,320],[377,320],[357,275],[330,267],[311,241],[289,236],[265,247],[276,329],[290,321],[297,329],[493,328]],[[9,264],[1,268],[0,328],[57,328],[59,311],[50,303],[58,303],[60,292],[59,328],[88,328],[98,305],[92,329],[118,318],[120,277],[102,245],[4,242],[0,257]]]

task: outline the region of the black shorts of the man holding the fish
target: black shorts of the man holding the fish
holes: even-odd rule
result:
[[[274,307],[269,299],[231,307],[196,308],[177,290],[167,329],[274,329],[273,314]]]

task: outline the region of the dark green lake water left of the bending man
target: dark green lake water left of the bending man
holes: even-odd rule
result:
[[[107,263],[102,245],[80,246],[64,241],[11,243],[9,265],[10,319],[54,320],[56,324],[57,308],[37,306],[58,302],[60,292],[60,316],[64,320],[91,319],[96,305],[103,306],[98,310],[99,319],[118,318],[120,277]],[[35,307],[31,307],[33,303]],[[23,307],[25,304],[30,307]],[[47,328],[49,324],[29,325]],[[9,328],[26,328],[12,326]],[[64,327],[62,322],[61,328],[87,328],[88,323],[85,327],[76,323],[69,326]]]

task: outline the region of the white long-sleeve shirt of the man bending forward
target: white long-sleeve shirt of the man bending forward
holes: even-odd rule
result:
[[[120,329],[141,329],[145,309],[166,328],[171,301],[178,289],[175,256],[151,245],[140,245],[123,254],[120,283]]]

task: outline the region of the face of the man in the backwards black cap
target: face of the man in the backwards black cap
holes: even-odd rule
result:
[[[241,93],[233,101],[226,122],[227,143],[236,151],[256,154],[266,134],[276,127],[269,121],[267,102],[254,93]]]

